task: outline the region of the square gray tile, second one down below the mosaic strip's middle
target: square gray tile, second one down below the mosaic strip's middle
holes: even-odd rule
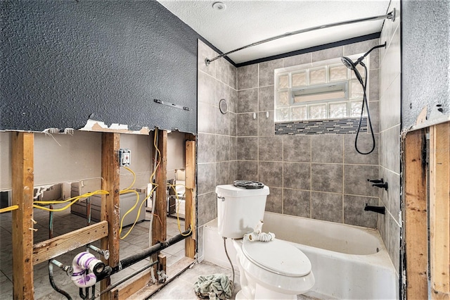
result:
[[[311,189],[318,192],[342,193],[342,165],[313,163]]]

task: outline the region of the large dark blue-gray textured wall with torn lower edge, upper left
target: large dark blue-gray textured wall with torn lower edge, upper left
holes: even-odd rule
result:
[[[200,36],[157,1],[1,1],[0,19],[0,130],[196,132]]]

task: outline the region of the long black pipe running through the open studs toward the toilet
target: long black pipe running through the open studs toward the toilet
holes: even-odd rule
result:
[[[173,237],[165,240],[165,242],[159,242],[158,244],[154,244],[153,246],[150,246],[147,249],[143,249],[143,251],[139,252],[138,254],[128,256],[127,258],[122,259],[122,261],[119,262],[119,265],[116,265],[113,268],[113,272],[111,272],[111,274],[117,273],[124,268],[128,268],[130,265],[138,263],[139,261],[148,258],[148,256],[151,256],[157,253],[158,251],[161,251],[162,249],[166,249],[168,246],[172,246],[173,244],[176,244],[177,242],[180,242],[186,239],[186,237],[190,237],[191,235],[192,232],[189,229],[178,235],[174,235]]]

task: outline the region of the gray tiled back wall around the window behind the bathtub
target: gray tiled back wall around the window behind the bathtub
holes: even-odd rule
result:
[[[266,211],[377,227],[376,213],[365,212],[364,205],[378,204],[380,192],[367,182],[378,177],[379,169],[378,51],[370,58],[375,151],[368,156],[354,149],[358,119],[274,124],[274,70],[365,53],[378,43],[374,39],[238,68],[237,174],[271,188]],[[361,151],[371,149],[371,142],[365,120]]]

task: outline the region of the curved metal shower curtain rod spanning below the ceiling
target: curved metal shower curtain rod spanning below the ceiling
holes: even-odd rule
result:
[[[354,23],[360,23],[360,22],[366,22],[366,21],[383,20],[383,19],[392,20],[392,22],[394,22],[394,20],[395,20],[395,8],[390,13],[387,13],[386,15],[376,15],[374,17],[361,18],[361,19],[356,19],[356,20],[348,20],[348,21],[342,21],[342,22],[338,22],[338,23],[330,23],[330,24],[326,24],[326,25],[309,27],[309,28],[306,28],[306,29],[297,30],[297,31],[293,31],[293,32],[286,32],[283,35],[277,35],[276,37],[269,37],[268,39],[262,39],[259,42],[248,44],[247,46],[242,46],[242,47],[240,47],[238,49],[234,49],[234,50],[231,50],[231,51],[226,52],[224,54],[220,54],[219,56],[216,56],[216,57],[211,58],[211,59],[210,58],[205,58],[205,63],[206,63],[206,65],[210,65],[210,63],[212,61],[215,61],[215,60],[217,60],[219,58],[222,58],[224,56],[228,56],[229,54],[232,54],[232,53],[234,53],[236,51],[240,51],[240,50],[243,50],[243,49],[246,49],[246,48],[250,48],[252,46],[257,46],[259,44],[264,44],[266,42],[271,42],[271,41],[274,41],[275,39],[281,39],[282,37],[290,37],[291,35],[298,35],[300,33],[314,31],[314,30],[319,30],[319,29],[323,29],[323,28],[335,27],[335,26],[340,26],[340,25],[348,25],[348,24],[354,24]]]

